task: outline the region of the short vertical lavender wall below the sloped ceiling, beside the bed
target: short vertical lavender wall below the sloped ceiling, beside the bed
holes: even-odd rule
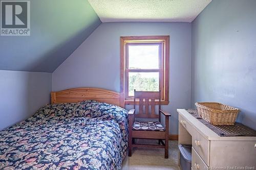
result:
[[[0,82],[0,131],[50,102],[50,73],[0,70]]]

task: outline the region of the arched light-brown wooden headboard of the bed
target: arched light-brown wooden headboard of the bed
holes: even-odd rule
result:
[[[86,100],[109,103],[124,108],[124,94],[101,88],[71,88],[51,92],[51,103],[77,103]]]

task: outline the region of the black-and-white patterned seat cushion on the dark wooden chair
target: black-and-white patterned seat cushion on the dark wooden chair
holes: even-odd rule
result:
[[[165,131],[160,122],[137,122],[133,124],[133,130],[136,131]]]

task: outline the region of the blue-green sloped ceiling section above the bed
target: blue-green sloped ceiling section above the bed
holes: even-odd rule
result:
[[[53,72],[100,25],[87,0],[31,0],[31,36],[0,36],[0,69]]]

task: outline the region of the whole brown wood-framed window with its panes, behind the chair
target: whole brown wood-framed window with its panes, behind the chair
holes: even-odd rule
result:
[[[161,104],[168,104],[169,36],[120,37],[120,92],[133,104],[134,89],[161,90]]]

